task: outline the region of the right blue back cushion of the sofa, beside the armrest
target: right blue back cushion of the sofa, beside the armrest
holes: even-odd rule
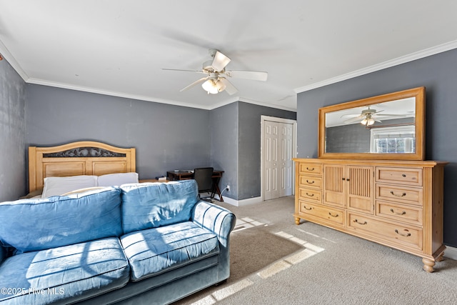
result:
[[[189,221],[199,194],[195,180],[124,184],[121,189],[124,233]]]

